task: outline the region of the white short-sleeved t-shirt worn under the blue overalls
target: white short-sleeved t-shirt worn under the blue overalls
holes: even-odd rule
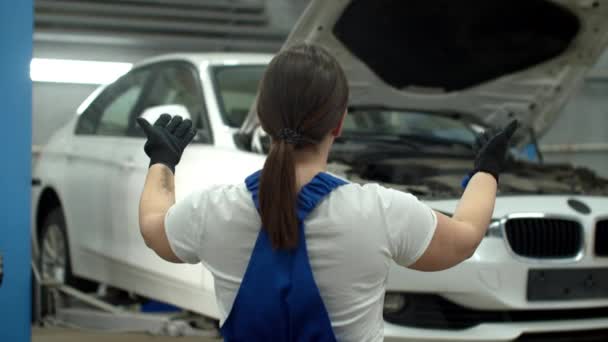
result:
[[[382,341],[389,266],[414,263],[437,217],[411,194],[377,184],[332,191],[304,222],[314,279],[338,341]],[[182,261],[203,262],[215,280],[223,324],[249,263],[261,221],[244,182],[214,186],[169,209],[165,229]]]

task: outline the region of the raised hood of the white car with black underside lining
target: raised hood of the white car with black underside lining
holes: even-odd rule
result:
[[[284,48],[302,42],[340,61],[351,106],[542,134],[608,45],[608,0],[312,0]]]

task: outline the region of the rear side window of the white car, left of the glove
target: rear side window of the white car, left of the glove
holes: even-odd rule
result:
[[[109,85],[80,115],[76,134],[124,136],[150,70],[135,70]]]

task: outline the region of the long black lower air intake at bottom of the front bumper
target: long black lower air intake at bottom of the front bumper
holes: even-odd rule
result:
[[[465,308],[434,294],[404,294],[405,306],[384,313],[392,324],[423,329],[458,330],[482,323],[559,321],[608,316],[608,307],[568,310],[486,311]]]

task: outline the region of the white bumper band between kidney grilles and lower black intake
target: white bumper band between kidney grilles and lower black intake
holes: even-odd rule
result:
[[[441,272],[417,272],[394,266],[387,292],[432,293],[476,310],[551,310],[608,307],[604,298],[528,301],[528,275],[538,269],[608,268],[608,258],[585,255],[570,263],[514,259],[500,238],[485,238],[475,254]]]

